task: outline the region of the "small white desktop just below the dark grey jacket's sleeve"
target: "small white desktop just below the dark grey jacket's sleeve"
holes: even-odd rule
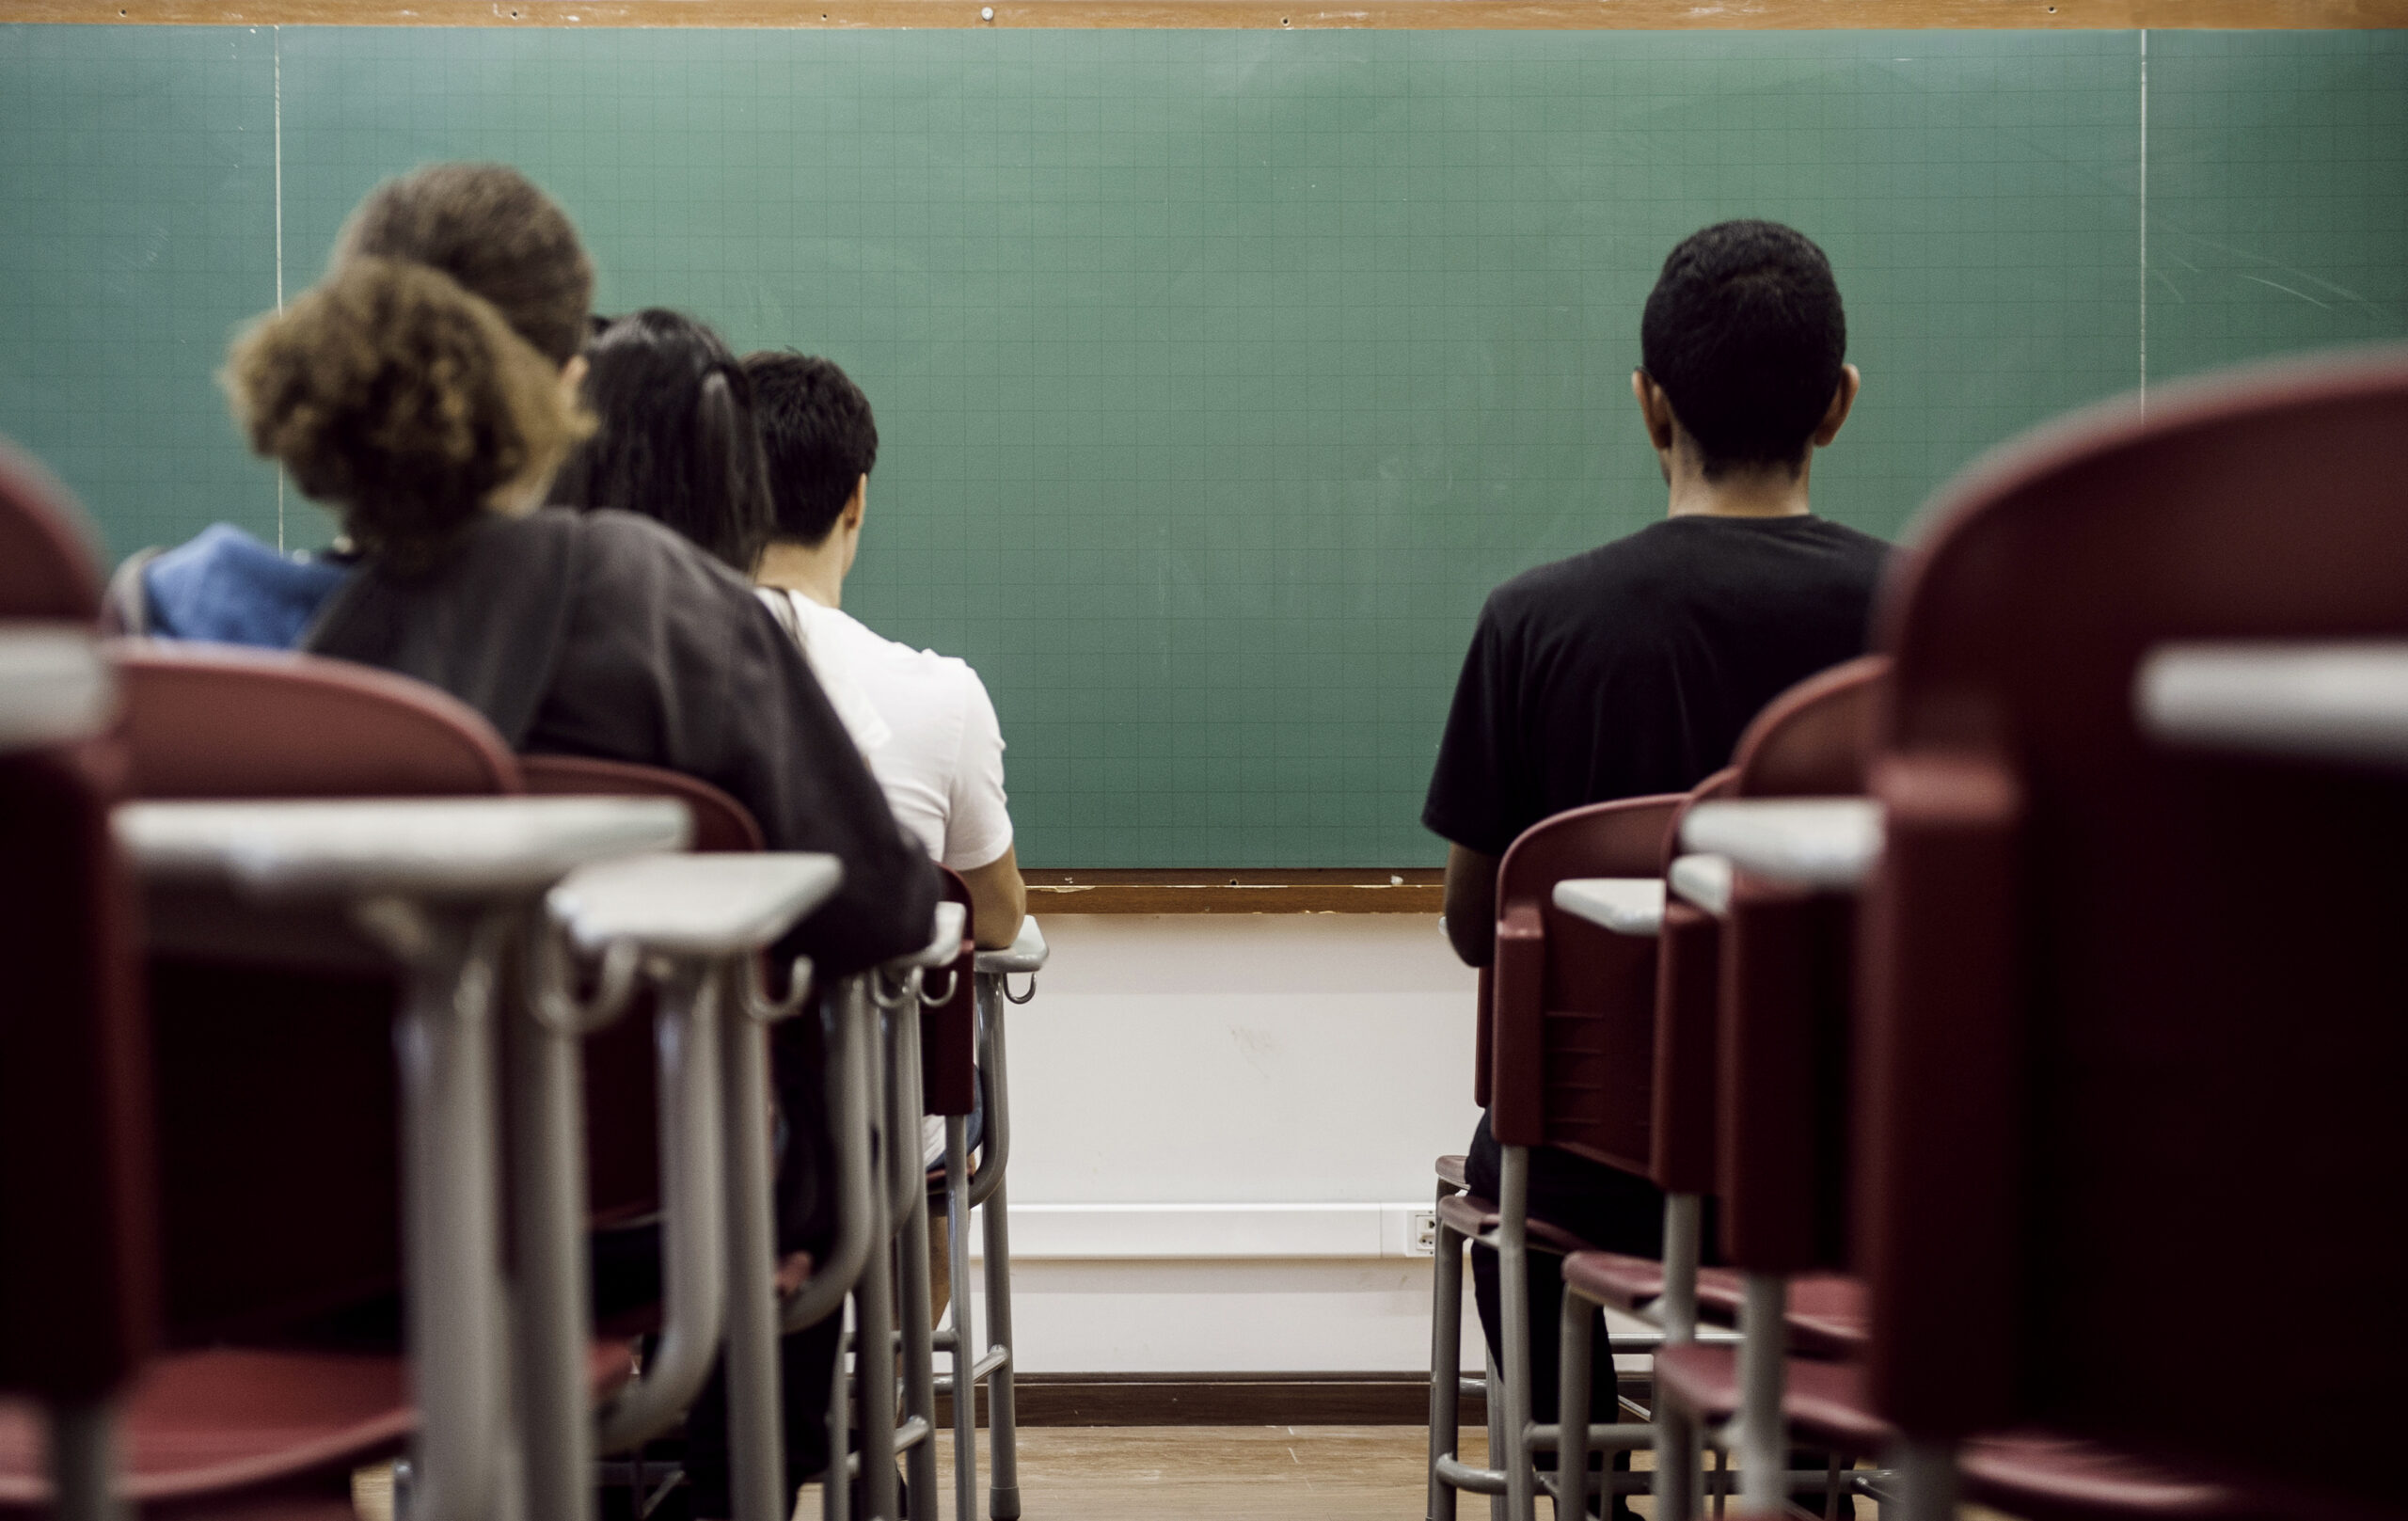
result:
[[[843,881],[831,854],[653,854],[578,866],[544,902],[585,951],[633,941],[734,955],[775,941]]]

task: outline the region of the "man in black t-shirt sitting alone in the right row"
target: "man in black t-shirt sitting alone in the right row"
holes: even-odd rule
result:
[[[1447,939],[1488,965],[1498,857],[1580,804],[1686,792],[1731,758],[1782,688],[1864,652],[1888,546],[1806,505],[1813,450],[1857,400],[1823,250],[1772,221],[1724,221],[1671,250],[1630,375],[1671,513],[1491,592],[1454,688],[1421,821],[1450,842]],[[1481,1117],[1471,1189],[1498,1196]],[[1647,1179],[1534,1148],[1529,1208],[1611,1251],[1659,1256]],[[1707,1242],[1712,1251],[1712,1242]],[[1531,1254],[1534,1418],[1556,1418],[1558,1261]],[[1498,1261],[1471,1254],[1498,1348]],[[1592,1410],[1613,1408],[1599,1357]]]

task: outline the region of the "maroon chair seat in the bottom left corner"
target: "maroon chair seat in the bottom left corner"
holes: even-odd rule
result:
[[[595,1343],[588,1377],[604,1396],[633,1377],[633,1345]],[[125,1401],[118,1439],[128,1497],[222,1502],[200,1514],[284,1516],[301,1499],[258,1495],[400,1451],[417,1427],[409,1360],[378,1353],[209,1348],[152,1362]],[[0,1509],[48,1507],[41,1413],[0,1405]],[[178,1514],[185,1514],[178,1509]]]

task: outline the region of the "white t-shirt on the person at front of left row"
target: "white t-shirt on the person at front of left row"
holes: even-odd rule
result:
[[[802,592],[759,592],[802,645],[836,717],[886,789],[896,823],[954,871],[1002,859],[1011,847],[1004,729],[978,671],[951,655],[896,643]]]

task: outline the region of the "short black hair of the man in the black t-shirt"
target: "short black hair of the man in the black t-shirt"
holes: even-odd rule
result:
[[[1664,260],[1640,363],[1705,457],[1799,464],[1847,363],[1847,313],[1830,260],[1780,221],[1719,221]]]

